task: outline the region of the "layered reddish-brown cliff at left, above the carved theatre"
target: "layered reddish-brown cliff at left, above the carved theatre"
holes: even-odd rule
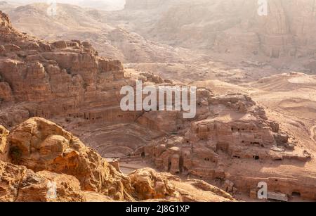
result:
[[[91,110],[119,101],[119,88],[128,83],[120,61],[98,56],[88,42],[48,43],[28,37],[16,31],[4,13],[1,22],[2,125],[77,113],[92,120]]]

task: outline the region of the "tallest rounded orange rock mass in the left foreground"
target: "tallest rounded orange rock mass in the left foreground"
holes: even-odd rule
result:
[[[117,200],[131,198],[131,181],[77,137],[53,122],[34,117],[15,127],[10,136],[11,159],[35,172],[48,170],[79,179],[83,191]]]

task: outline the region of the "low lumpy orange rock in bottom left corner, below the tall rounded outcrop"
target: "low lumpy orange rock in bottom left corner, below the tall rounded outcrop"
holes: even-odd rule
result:
[[[0,179],[0,201],[85,201],[79,181],[66,174],[35,173],[26,167],[0,160]],[[55,182],[56,196],[48,193],[51,182]]]

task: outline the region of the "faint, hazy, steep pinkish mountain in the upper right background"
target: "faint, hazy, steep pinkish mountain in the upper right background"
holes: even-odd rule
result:
[[[258,15],[257,2],[127,0],[116,21],[129,20],[147,39],[208,53],[314,56],[315,1],[270,0],[267,16]]]

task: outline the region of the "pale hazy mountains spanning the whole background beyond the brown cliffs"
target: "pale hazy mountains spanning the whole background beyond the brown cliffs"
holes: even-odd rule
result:
[[[123,10],[111,12],[60,4],[55,17],[46,14],[45,4],[1,7],[24,32],[48,40],[79,37],[96,46],[101,55],[124,63],[146,63],[137,65],[138,69],[150,68],[160,75],[175,69],[182,78],[189,78],[181,64],[170,68],[161,63],[195,62],[209,70],[210,61],[233,65],[232,71],[242,70],[246,61],[268,63],[270,74],[315,73],[314,1],[270,0],[268,6],[269,15],[259,16],[257,1],[129,0]],[[246,80],[245,74],[258,79],[252,71],[232,72],[231,81]]]

